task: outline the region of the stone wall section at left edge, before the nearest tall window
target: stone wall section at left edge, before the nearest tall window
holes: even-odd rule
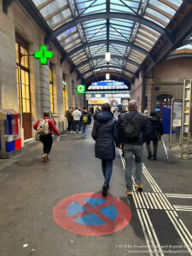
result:
[[[9,16],[3,13],[2,1],[0,10],[0,108],[18,111],[15,26]]]

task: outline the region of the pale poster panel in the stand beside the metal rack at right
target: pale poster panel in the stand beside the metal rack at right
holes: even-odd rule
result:
[[[183,102],[173,100],[172,103],[172,131],[180,131],[182,125]]]

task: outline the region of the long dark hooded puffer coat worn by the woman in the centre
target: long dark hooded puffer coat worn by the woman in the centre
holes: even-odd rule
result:
[[[103,110],[96,114],[92,137],[96,141],[96,157],[102,160],[115,159],[115,145],[119,147],[117,122],[110,111]]]

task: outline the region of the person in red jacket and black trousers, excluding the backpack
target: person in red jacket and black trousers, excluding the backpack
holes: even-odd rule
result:
[[[44,120],[48,120],[49,124],[49,131],[48,134],[40,135],[40,141],[44,145],[44,154],[42,156],[44,162],[48,160],[48,154],[50,152],[50,149],[52,147],[53,138],[52,138],[52,132],[55,132],[57,136],[60,136],[60,132],[56,129],[55,123],[52,119],[49,118],[49,112],[44,112]],[[33,125],[33,128],[37,131],[38,130],[38,124],[42,121],[42,119],[38,119],[38,121]]]

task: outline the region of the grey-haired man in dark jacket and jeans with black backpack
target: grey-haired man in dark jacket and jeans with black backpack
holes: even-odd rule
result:
[[[126,193],[132,195],[132,162],[135,156],[136,173],[135,188],[143,189],[143,143],[150,134],[148,117],[137,111],[137,102],[129,102],[129,112],[120,116],[118,121],[120,148],[123,149],[125,158]]]

